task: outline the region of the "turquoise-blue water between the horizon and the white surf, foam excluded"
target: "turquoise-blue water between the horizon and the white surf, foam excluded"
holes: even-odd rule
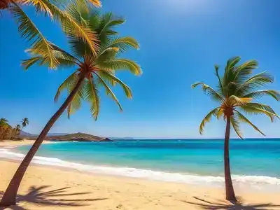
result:
[[[29,146],[18,148],[26,153]],[[223,141],[162,140],[44,144],[39,156],[83,164],[156,169],[218,176],[223,174]],[[232,174],[280,178],[280,139],[232,140]]]

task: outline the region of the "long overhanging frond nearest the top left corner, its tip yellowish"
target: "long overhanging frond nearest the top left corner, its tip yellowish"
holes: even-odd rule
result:
[[[27,38],[28,41],[33,41],[31,52],[35,55],[42,55],[44,57],[43,64],[47,64],[50,69],[55,69],[58,61],[52,53],[51,43],[41,34],[41,31],[38,30],[36,25],[34,25],[17,3],[12,1],[9,10],[18,22],[18,29],[21,36]]]

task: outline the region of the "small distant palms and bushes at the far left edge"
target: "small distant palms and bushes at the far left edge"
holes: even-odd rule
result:
[[[28,123],[27,122],[28,119],[25,120],[24,127],[26,127],[29,124],[29,122]],[[13,127],[8,123],[8,120],[6,118],[0,118],[0,141],[4,139],[6,140],[20,139],[21,130],[22,130],[22,126],[20,124],[15,125],[15,127]]]

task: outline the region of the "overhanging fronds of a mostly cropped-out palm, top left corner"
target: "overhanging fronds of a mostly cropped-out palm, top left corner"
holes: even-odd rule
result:
[[[99,0],[72,0],[76,5],[94,5],[101,6]],[[71,13],[67,13],[63,8],[64,0],[1,0],[0,10],[8,10],[12,13],[16,22],[18,22],[18,30],[22,37],[31,41],[31,52],[44,56],[44,64],[48,64],[50,69],[55,69],[59,61],[52,53],[52,44],[34,25],[34,22],[28,17],[27,13],[22,10],[22,6],[33,6],[36,13],[50,17],[51,20],[58,20],[62,24],[62,29],[67,34],[82,38],[92,52],[97,50],[97,38],[95,34],[85,25],[78,25]]]

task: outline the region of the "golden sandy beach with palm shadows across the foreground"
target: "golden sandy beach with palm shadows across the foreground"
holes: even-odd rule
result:
[[[0,143],[1,146],[31,141]],[[19,162],[0,160],[0,197]],[[31,165],[10,209],[280,209],[279,193],[236,190],[240,204],[224,200],[223,188],[209,188],[87,174],[75,170]],[[9,209],[9,208],[6,208]]]

